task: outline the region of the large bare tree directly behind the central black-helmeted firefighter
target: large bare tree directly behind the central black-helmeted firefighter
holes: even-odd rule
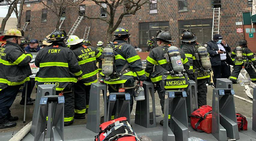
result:
[[[146,3],[151,3],[154,0],[91,0],[95,2],[96,5],[101,6],[101,8],[105,8],[104,5],[107,5],[106,14],[109,18],[102,18],[102,17],[87,17],[88,19],[99,19],[105,21],[109,24],[107,29],[107,41],[112,41],[112,33],[118,28],[120,23],[123,20],[125,15],[135,15],[138,10],[141,9],[143,5]],[[118,17],[117,21],[114,23],[116,10],[118,8],[126,8]]]

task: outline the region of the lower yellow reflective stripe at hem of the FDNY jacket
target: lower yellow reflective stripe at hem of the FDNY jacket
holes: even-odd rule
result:
[[[51,77],[51,78],[41,78],[41,77],[35,77],[35,81],[38,82],[77,82],[76,78],[57,78],[57,77]]]

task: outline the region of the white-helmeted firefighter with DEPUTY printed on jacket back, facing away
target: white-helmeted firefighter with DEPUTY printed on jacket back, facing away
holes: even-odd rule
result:
[[[101,59],[101,52],[91,46],[82,44],[83,39],[79,39],[76,35],[68,38],[68,45],[73,50],[78,60],[78,64],[82,67],[82,77],[74,84],[74,118],[85,119],[85,112],[88,111],[91,84],[97,82],[98,69],[96,60]]]

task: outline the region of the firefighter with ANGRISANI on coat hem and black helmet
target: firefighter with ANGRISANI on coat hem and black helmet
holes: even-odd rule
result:
[[[153,83],[157,84],[157,93],[160,98],[162,112],[164,113],[165,90],[179,90],[188,87],[188,78],[185,77],[186,74],[182,75],[181,77],[174,74],[169,74],[169,72],[174,71],[174,67],[170,62],[171,59],[169,59],[168,56],[168,48],[174,47],[171,46],[171,43],[173,42],[171,34],[167,31],[160,31],[157,34],[156,40],[158,47],[150,51],[149,56],[147,57],[145,72],[147,78],[150,78]],[[181,61],[177,61],[177,63],[179,63],[178,65],[183,64],[184,69],[189,72],[188,58],[186,58],[184,52],[181,49],[177,48],[177,51],[181,57]],[[185,73],[184,71],[183,73]],[[191,74],[192,72],[190,72],[190,75]],[[163,75],[167,75],[166,80],[162,80]],[[169,112],[171,112],[170,108]],[[171,119],[171,115],[169,115],[169,119]],[[163,126],[163,120],[160,121],[160,125]]]

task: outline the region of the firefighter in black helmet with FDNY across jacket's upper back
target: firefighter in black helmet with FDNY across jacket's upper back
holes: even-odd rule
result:
[[[64,95],[64,126],[74,122],[74,89],[73,83],[82,76],[81,67],[76,55],[64,43],[67,39],[65,31],[54,31],[48,43],[51,46],[40,50],[35,65],[40,67],[35,80],[37,85],[55,84],[56,94]]]

